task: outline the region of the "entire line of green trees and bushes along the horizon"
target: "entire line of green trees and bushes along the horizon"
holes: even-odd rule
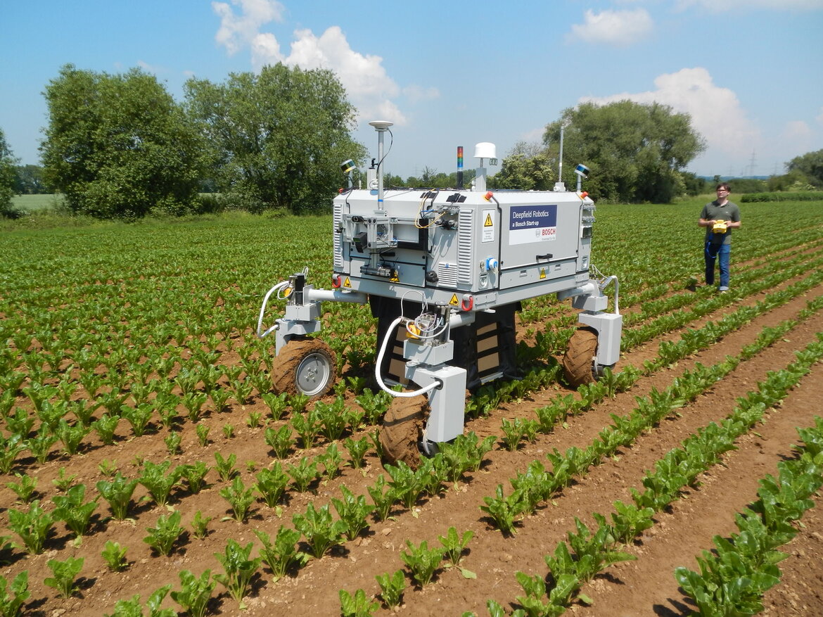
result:
[[[278,63],[222,83],[192,78],[177,102],[141,69],[113,75],[67,64],[44,96],[42,166],[16,165],[0,129],[0,215],[12,212],[14,194],[44,192],[62,193],[72,213],[103,219],[226,208],[328,211],[341,162],[351,158],[363,168],[368,154],[351,137],[356,109],[346,90],[323,69]],[[561,129],[563,159],[592,170],[585,189],[595,199],[663,203],[706,188],[686,171],[704,150],[688,114],[630,101],[565,109],[546,125],[542,143],[514,146],[489,188],[551,190],[559,181],[574,188],[573,165],[558,176]],[[823,187],[823,151],[798,156],[786,169],[751,190]],[[467,169],[463,186],[473,176]],[[458,178],[424,167],[406,180],[388,174],[385,185],[456,188]]]

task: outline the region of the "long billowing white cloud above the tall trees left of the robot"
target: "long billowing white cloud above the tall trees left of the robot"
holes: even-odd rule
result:
[[[306,70],[329,69],[337,74],[351,103],[361,117],[391,118],[395,124],[404,124],[406,117],[393,99],[400,95],[400,88],[388,77],[383,58],[363,54],[351,49],[346,35],[339,26],[328,28],[317,36],[311,30],[295,30],[288,55],[281,51],[280,42],[270,32],[261,31],[270,21],[281,21],[283,7],[273,0],[231,0],[240,7],[241,14],[225,2],[213,2],[215,12],[221,16],[221,28],[217,42],[225,45],[229,53],[236,53],[248,46],[255,70],[267,64],[283,63]],[[413,94],[413,93],[412,93]],[[419,90],[418,95],[434,97],[436,90]]]

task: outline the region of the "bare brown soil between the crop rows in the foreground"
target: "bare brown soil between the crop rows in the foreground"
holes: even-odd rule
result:
[[[756,339],[763,327],[797,318],[807,300],[820,295],[823,295],[823,287],[816,287],[807,295],[765,313],[709,349],[670,369],[640,379],[629,392],[604,401],[583,415],[570,417],[553,433],[538,434],[533,443],[527,443],[515,452],[496,444],[486,455],[481,471],[463,476],[457,485],[434,498],[421,499],[412,511],[395,505],[388,521],[370,521],[370,526],[356,540],[335,547],[323,559],[313,559],[278,582],[272,582],[271,573],[261,568],[253,581],[253,590],[245,598],[247,608],[242,613],[226,589],[218,585],[210,610],[221,615],[339,615],[339,590],[354,595],[361,588],[367,596],[376,596],[379,586],[374,577],[404,568],[400,553],[406,549],[407,540],[415,544],[426,540],[430,546],[439,545],[438,536],[445,535],[449,527],[455,527],[458,533],[473,532],[462,566],[476,578],[466,578],[459,568],[443,568],[435,574],[430,585],[420,588],[407,577],[409,586],[402,605],[391,614],[462,615],[464,611],[473,611],[477,615],[487,615],[488,599],[499,601],[509,612],[514,610],[517,607],[515,598],[522,595],[514,573],[523,571],[546,576],[543,556],[553,552],[560,540],[565,540],[566,532],[574,529],[575,517],[591,524],[592,513],[608,516],[617,499],[630,502],[630,487],[641,486],[644,471],[653,468],[655,461],[676,448],[696,429],[713,420],[722,420],[732,411],[738,397],[756,390],[757,383],[768,371],[784,368],[794,360],[795,351],[823,332],[823,314],[800,322],[777,344],[740,364],[727,378],[649,430],[619,456],[593,467],[588,475],[542,504],[532,516],[523,518],[514,536],[504,536],[491,526],[480,510],[483,498],[493,495],[499,484],[508,494],[509,478],[525,470],[533,460],[545,462],[546,453],[554,448],[560,451],[575,445],[585,448],[599,430],[610,424],[611,414],[623,415],[635,407],[635,397],[644,396],[653,387],[667,387],[673,378],[695,364],[711,365],[722,361],[726,355],[737,355],[743,346]],[[739,304],[754,304],[757,299],[748,297]],[[716,321],[721,317],[721,314],[714,314],[704,321]],[[692,323],[690,327],[699,325]],[[641,367],[644,360],[655,355],[661,341],[677,338],[678,333],[673,332],[647,346],[631,350],[621,359],[621,365]],[[225,364],[226,357],[221,362]],[[775,474],[779,461],[793,457],[796,427],[814,424],[814,416],[821,415],[821,380],[823,366],[816,364],[783,403],[765,415],[763,424],[739,440],[737,450],[725,455],[722,464],[700,478],[699,488],[687,489],[682,499],[672,503],[672,508],[655,516],[655,525],[626,548],[636,560],[608,568],[583,588],[593,604],[574,604],[570,607],[571,613],[686,615],[694,610],[694,605],[678,589],[674,569],[677,566],[696,568],[695,555],[712,548],[713,536],[728,536],[736,531],[734,514],[757,499],[758,480],[767,474]],[[489,417],[467,421],[466,429],[481,438],[489,434],[500,435],[502,418],[533,417],[536,408],[545,406],[558,393],[565,394],[560,387],[534,393],[528,399],[496,410]],[[18,402],[22,406],[25,401],[21,397]],[[137,463],[142,459],[153,462],[170,459],[173,464],[202,460],[213,465],[215,452],[221,452],[223,456],[234,453],[239,474],[244,483],[250,485],[253,472],[272,462],[272,452],[263,441],[263,429],[249,428],[246,418],[253,411],[264,414],[266,407],[255,397],[244,407],[229,406],[226,409],[229,411],[212,413],[205,420],[212,426],[212,442],[206,447],[198,444],[193,427],[186,421],[181,432],[182,453],[174,457],[169,456],[165,447],[165,429],[156,427],[153,434],[125,438],[128,425],[122,422],[118,433],[124,438],[114,446],[103,446],[94,434],[90,434],[86,438],[88,446],[79,455],[53,457],[42,466],[32,458],[21,458],[15,471],[29,473],[38,479],[39,497],[47,509],[51,506],[51,497],[56,494],[52,480],[61,468],[65,468],[67,475],[76,475],[77,482],[86,484],[88,498],[95,494],[92,487],[96,482],[105,478],[100,471],[100,463],[104,461],[116,462],[125,476],[136,477]],[[223,434],[226,424],[235,427],[235,434],[230,438]],[[306,452],[294,452],[288,462],[296,462],[304,454],[317,455],[324,449],[325,444],[321,444]],[[27,452],[21,456],[27,456]],[[261,529],[273,536],[281,525],[291,527],[291,517],[295,513],[305,512],[308,503],[314,503],[318,508],[329,503],[332,497],[340,494],[341,485],[346,485],[354,494],[366,494],[366,487],[373,485],[380,474],[385,475],[374,450],[366,462],[362,470],[346,466],[336,479],[315,482],[307,493],[300,494],[292,489],[289,499],[281,507],[267,508],[260,501],[254,503],[249,521],[243,524],[229,518],[229,505],[219,494],[227,483],[212,470],[207,476],[207,489],[199,494],[176,489],[169,503],[169,508],[182,513],[183,523],[189,530],[198,510],[213,517],[209,535],[198,540],[187,531],[168,557],[153,554],[143,541],[147,528],[153,527],[157,517],[167,513],[167,508],[142,501],[133,509],[130,519],[117,522],[108,517],[109,508],[100,499],[91,533],[80,543],[72,539],[62,522],[58,522],[56,533],[48,540],[43,554],[28,555],[22,550],[14,550],[11,563],[0,568],[0,574],[11,581],[16,573],[28,570],[31,597],[26,605],[26,615],[111,613],[119,599],[139,594],[142,601],[146,601],[152,591],[167,583],[178,589],[177,573],[180,570],[188,569],[199,574],[210,568],[212,572],[220,573],[221,565],[214,554],[222,552],[227,540],[233,538],[242,545],[249,542],[258,545],[253,530]],[[249,471],[252,466],[254,471]],[[16,478],[8,475],[0,480],[2,521],[7,522],[8,508],[23,507],[15,505],[16,496],[6,488],[6,483]],[[138,486],[135,498],[145,495],[146,490]],[[797,537],[783,547],[790,556],[780,564],[782,582],[765,597],[764,615],[823,615],[823,516],[819,494],[815,501],[816,507],[803,517]],[[10,530],[0,530],[0,534],[17,540]],[[129,567],[123,573],[109,572],[100,557],[106,540],[116,540],[128,547]],[[43,581],[51,576],[46,565],[49,559],[66,559],[68,556],[84,557],[85,564],[78,591],[63,599]],[[170,597],[163,605],[175,610],[179,608]],[[375,612],[375,615],[388,614],[390,611],[385,608]]]

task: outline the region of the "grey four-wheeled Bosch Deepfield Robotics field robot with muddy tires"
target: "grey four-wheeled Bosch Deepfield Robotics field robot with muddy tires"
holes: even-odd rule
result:
[[[616,364],[618,282],[590,262],[595,208],[580,190],[584,165],[575,169],[576,191],[561,182],[553,191],[491,191],[484,165],[496,163],[495,146],[483,142],[470,189],[384,188],[384,135],[392,123],[370,125],[379,162],[372,161],[368,186],[352,188],[350,176],[333,201],[332,289],[309,285],[308,269],[274,285],[258,336],[275,334],[277,391],[322,397],[333,385],[335,358],[309,336],[321,329],[321,304],[370,304],[378,319],[374,377],[394,397],[380,430],[384,457],[416,466],[421,453],[463,433],[467,389],[516,377],[514,319],[523,300],[556,294],[580,311],[562,362],[572,385]],[[460,176],[462,148],[458,186]],[[604,295],[612,282],[613,313]],[[264,330],[272,295],[286,299],[286,311]]]

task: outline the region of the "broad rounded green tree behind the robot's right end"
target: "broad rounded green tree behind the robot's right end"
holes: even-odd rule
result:
[[[670,202],[685,192],[681,171],[704,150],[688,114],[667,105],[629,100],[565,109],[546,127],[543,142],[555,154],[565,124],[563,158],[591,169],[586,190],[614,202]],[[566,186],[576,184],[574,165],[564,167]]]

